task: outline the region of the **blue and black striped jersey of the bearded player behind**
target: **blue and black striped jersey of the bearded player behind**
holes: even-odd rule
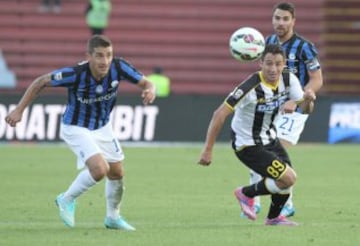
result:
[[[266,38],[266,44],[280,44],[280,41],[276,34],[272,34]],[[286,52],[286,69],[294,73],[304,87],[309,82],[308,71],[320,69],[318,51],[313,43],[296,33],[281,46]]]

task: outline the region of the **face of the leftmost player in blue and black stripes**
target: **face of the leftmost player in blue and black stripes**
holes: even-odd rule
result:
[[[101,79],[107,75],[112,59],[112,46],[97,47],[92,54],[88,54],[90,70],[96,79]]]

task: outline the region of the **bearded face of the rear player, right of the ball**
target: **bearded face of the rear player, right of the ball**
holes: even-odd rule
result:
[[[286,41],[293,34],[295,18],[289,11],[276,9],[273,13],[272,24],[276,35],[282,41]]]

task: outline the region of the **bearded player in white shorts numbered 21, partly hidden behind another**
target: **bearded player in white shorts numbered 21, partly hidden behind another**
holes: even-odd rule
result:
[[[311,89],[315,93],[322,87],[322,72],[318,60],[318,52],[311,42],[294,31],[295,6],[283,2],[273,8],[272,25],[275,33],[266,38],[267,44],[280,44],[286,52],[286,71],[294,73],[300,80],[301,86]],[[285,147],[296,145],[304,130],[307,114],[298,110],[291,114],[283,114],[276,120],[277,135]],[[257,183],[262,177],[250,171],[250,183]],[[260,198],[255,199],[255,209],[261,209]],[[295,214],[292,195],[284,206],[281,214],[289,217]]]

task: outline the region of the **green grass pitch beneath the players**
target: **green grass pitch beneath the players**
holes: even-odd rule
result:
[[[123,216],[135,232],[106,230],[104,182],[77,201],[77,226],[63,225],[56,195],[77,174],[64,145],[0,146],[0,245],[291,245],[360,244],[359,145],[298,145],[289,150],[298,182],[293,218],[300,226],[264,226],[239,217],[233,190],[248,170],[229,145],[217,144],[210,167],[201,146],[132,147],[126,154]]]

